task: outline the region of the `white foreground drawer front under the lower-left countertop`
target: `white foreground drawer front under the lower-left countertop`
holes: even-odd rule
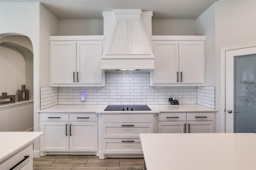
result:
[[[4,163],[0,164],[0,170],[8,170],[15,166],[16,164],[18,164],[20,161],[22,162],[18,166],[16,166],[16,168],[14,168],[15,170],[28,170],[33,168],[33,145],[29,145],[25,149],[21,150],[20,152],[12,156],[10,159],[6,160]]]

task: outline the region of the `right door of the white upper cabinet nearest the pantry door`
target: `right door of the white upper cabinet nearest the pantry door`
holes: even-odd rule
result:
[[[204,83],[204,41],[179,42],[180,83]]]

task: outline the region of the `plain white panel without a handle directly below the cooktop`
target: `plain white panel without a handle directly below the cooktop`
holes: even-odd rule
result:
[[[153,123],[154,115],[152,114],[104,114],[102,115],[103,123]]]

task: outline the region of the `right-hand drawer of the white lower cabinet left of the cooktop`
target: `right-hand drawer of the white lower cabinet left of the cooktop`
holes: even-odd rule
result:
[[[98,121],[96,113],[70,113],[69,121]]]

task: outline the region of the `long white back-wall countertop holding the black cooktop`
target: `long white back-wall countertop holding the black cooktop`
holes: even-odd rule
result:
[[[151,111],[104,111],[107,105],[56,105],[38,112],[63,112],[63,113],[159,113],[159,112],[214,112],[215,109],[198,104],[180,105],[148,105]]]

